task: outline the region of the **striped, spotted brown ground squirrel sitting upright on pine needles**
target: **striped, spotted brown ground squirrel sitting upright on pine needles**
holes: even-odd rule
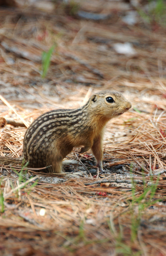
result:
[[[90,148],[102,170],[102,139],[106,123],[131,108],[121,93],[110,90],[95,93],[78,109],[52,110],[39,116],[27,129],[23,141],[23,157],[0,157],[0,164],[28,162],[28,167],[48,168],[62,173],[62,160],[73,147]]]

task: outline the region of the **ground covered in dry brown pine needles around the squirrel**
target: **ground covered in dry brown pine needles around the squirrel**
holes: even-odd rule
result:
[[[125,24],[121,18],[131,6],[123,2],[83,1],[79,8],[87,6],[90,12],[102,6],[112,16],[78,19],[60,3],[53,12],[0,9],[2,117],[28,126],[45,111],[77,108],[108,88],[124,93],[136,110],[107,125],[107,172],[98,178],[86,173],[95,165],[90,152],[81,157],[85,168],[72,166],[83,174],[73,179],[28,170],[19,182],[17,168],[1,167],[0,255],[166,255],[165,29],[140,18],[135,26]],[[136,55],[117,54],[117,42],[132,42]],[[42,51],[54,43],[42,79]],[[22,154],[25,130],[0,130],[1,155]]]

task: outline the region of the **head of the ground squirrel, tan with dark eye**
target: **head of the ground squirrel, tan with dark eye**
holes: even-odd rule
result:
[[[95,93],[90,97],[90,106],[98,115],[104,116],[106,119],[112,119],[128,111],[132,107],[131,103],[118,92],[104,90]]]

